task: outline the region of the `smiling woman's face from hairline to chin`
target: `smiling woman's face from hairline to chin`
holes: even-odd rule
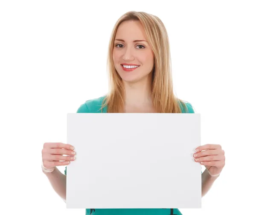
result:
[[[149,77],[154,66],[154,54],[140,21],[125,21],[119,25],[113,47],[113,62],[125,82],[138,82]]]

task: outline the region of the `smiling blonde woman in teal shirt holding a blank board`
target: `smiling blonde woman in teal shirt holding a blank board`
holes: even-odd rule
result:
[[[189,102],[174,95],[169,39],[158,17],[135,11],[122,15],[113,28],[108,52],[110,92],[86,101],[77,113],[195,113]],[[64,200],[67,167],[63,175],[56,166],[69,164],[74,153],[71,145],[63,143],[45,143],[42,150],[43,172]],[[218,144],[206,144],[194,156],[206,167],[204,196],[224,167],[224,151]],[[89,214],[181,215],[178,209],[86,209]]]

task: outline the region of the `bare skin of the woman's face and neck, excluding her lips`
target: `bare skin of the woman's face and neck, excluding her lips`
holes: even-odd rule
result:
[[[154,53],[139,21],[125,21],[119,25],[113,47],[113,62],[125,87],[125,112],[154,113],[151,94]],[[127,72],[122,69],[123,63],[139,67]]]

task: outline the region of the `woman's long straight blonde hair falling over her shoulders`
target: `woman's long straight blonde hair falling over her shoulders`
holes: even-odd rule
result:
[[[184,101],[177,99],[173,92],[169,38],[162,21],[145,12],[129,11],[123,14],[114,25],[108,47],[109,93],[103,100],[102,108],[108,107],[107,113],[122,113],[125,101],[125,89],[122,79],[113,63],[113,46],[118,26],[124,21],[140,21],[147,40],[154,53],[152,71],[153,105],[157,113],[182,113],[180,104],[186,109]]]

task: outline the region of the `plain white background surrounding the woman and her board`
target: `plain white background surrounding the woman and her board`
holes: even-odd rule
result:
[[[41,171],[41,150],[44,142],[66,142],[67,113],[107,93],[110,34],[130,10],[163,21],[175,93],[201,113],[202,144],[221,144],[226,153],[226,166],[203,197],[202,209],[180,211],[252,214],[255,9],[254,1],[245,0],[2,0],[0,214],[85,214],[66,209],[54,192]]]

